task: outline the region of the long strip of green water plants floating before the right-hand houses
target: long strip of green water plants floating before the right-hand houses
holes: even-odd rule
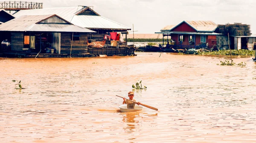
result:
[[[206,51],[198,51],[198,55],[230,55],[230,50],[216,50],[216,51],[211,51],[211,52],[206,52]],[[255,51],[254,50],[231,50],[231,55],[236,55],[236,56],[254,56]]]

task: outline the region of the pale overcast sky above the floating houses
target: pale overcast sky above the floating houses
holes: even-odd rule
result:
[[[256,0],[32,0],[43,8],[93,6],[98,14],[132,29],[153,34],[184,20],[251,25],[256,34]]]

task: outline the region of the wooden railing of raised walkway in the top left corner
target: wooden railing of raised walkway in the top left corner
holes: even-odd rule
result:
[[[43,3],[32,2],[0,2],[0,8],[5,10],[23,10],[23,9],[39,9],[43,8]]]

